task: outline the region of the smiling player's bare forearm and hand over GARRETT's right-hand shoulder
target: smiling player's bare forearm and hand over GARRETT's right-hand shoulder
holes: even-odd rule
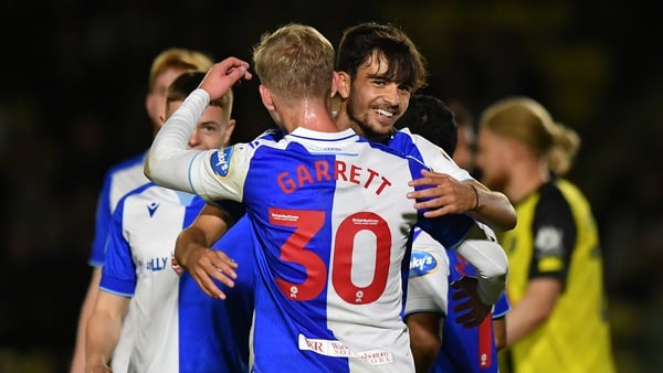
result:
[[[467,213],[495,231],[508,231],[516,226],[516,210],[506,195],[492,191],[476,180],[459,181],[445,173],[422,171],[422,178],[409,182],[410,186],[435,185],[408,194],[417,202],[414,209],[430,209],[424,216]]]

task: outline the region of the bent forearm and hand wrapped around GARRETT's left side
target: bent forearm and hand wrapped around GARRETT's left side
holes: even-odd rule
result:
[[[228,232],[231,225],[229,220],[225,211],[208,203],[193,223],[180,232],[175,244],[178,264],[189,271],[202,291],[220,299],[225,299],[225,294],[212,278],[233,287],[238,265],[225,253],[211,246]]]

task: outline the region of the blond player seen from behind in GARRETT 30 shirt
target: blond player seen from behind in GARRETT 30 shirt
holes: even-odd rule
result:
[[[287,135],[221,151],[183,149],[182,136],[207,102],[251,77],[246,63],[230,57],[210,70],[157,135],[146,174],[208,200],[245,203],[260,274],[254,371],[412,372],[400,318],[408,232],[417,222],[453,247],[463,236],[456,228],[471,220],[418,214],[407,181],[423,164],[337,129],[330,116],[334,49],[315,29],[288,24],[265,34],[254,65],[263,105]],[[472,260],[482,254],[463,255]],[[217,267],[231,285],[236,265]]]

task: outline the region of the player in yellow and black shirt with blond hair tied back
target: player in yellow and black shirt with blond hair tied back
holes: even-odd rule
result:
[[[476,164],[515,204],[518,224],[498,234],[509,258],[507,350],[501,372],[614,372],[603,264],[591,207],[562,179],[580,139],[529,97],[480,117]]]

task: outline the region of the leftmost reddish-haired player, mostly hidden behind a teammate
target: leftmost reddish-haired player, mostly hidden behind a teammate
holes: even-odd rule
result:
[[[168,85],[183,72],[207,71],[211,65],[212,58],[209,55],[179,47],[167,49],[152,60],[147,82],[145,108],[155,134],[161,126],[159,116],[166,113],[166,88]],[[143,171],[145,154],[146,152],[143,152],[115,164],[106,172],[104,178],[103,188],[97,200],[95,234],[88,259],[88,264],[93,267],[92,277],[78,316],[71,373],[83,373],[85,369],[85,328],[98,294],[106,238],[115,206],[123,195],[149,182]]]

